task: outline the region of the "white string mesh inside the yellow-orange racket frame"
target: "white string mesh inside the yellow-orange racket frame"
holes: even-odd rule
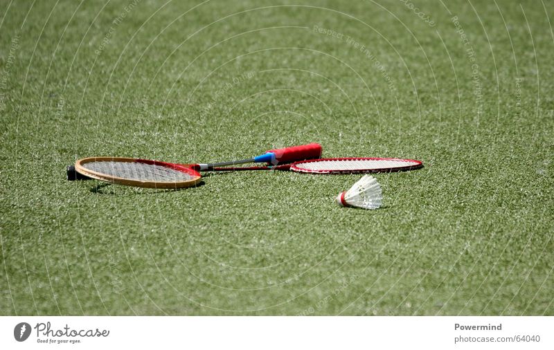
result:
[[[169,167],[145,163],[100,161],[84,163],[82,166],[100,174],[136,181],[175,183],[193,180],[197,177]]]

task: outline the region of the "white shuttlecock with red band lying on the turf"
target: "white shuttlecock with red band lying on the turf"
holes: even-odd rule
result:
[[[339,193],[337,204],[341,207],[377,209],[381,206],[382,199],[381,185],[373,176],[364,175],[350,190]]]

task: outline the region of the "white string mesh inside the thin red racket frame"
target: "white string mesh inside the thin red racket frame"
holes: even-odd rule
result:
[[[307,171],[348,171],[348,170],[369,170],[369,169],[392,169],[397,167],[409,167],[419,165],[410,160],[379,160],[379,159],[357,159],[357,160],[318,160],[296,164],[296,168]]]

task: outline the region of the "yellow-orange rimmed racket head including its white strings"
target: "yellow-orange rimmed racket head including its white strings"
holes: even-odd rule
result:
[[[199,172],[185,165],[136,158],[82,158],[75,170],[108,183],[159,189],[192,187],[202,180]]]

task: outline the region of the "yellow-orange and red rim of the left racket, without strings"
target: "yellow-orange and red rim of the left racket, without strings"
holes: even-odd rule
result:
[[[179,172],[184,172],[194,177],[190,180],[175,181],[175,182],[132,180],[129,178],[120,178],[118,176],[102,174],[84,167],[85,164],[93,163],[93,162],[122,162],[122,163],[143,163],[143,164],[150,164],[150,165],[159,165],[161,167],[168,167],[170,169],[177,170]],[[157,160],[136,159],[136,158],[124,158],[124,157],[82,158],[77,160],[77,162],[75,162],[75,170],[84,176],[88,176],[89,178],[94,178],[96,180],[105,181],[108,183],[116,183],[118,185],[127,185],[127,186],[135,186],[135,187],[176,189],[176,188],[184,188],[184,187],[193,187],[197,185],[197,183],[202,181],[202,176],[199,174],[199,172],[195,171],[194,169],[191,169],[190,167],[187,167],[186,165],[159,162]]]

